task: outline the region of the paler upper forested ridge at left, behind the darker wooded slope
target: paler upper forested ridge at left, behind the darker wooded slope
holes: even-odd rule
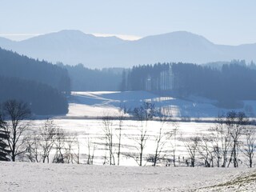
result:
[[[1,48],[0,75],[42,82],[60,91],[70,92],[67,70],[50,62],[38,61]]]

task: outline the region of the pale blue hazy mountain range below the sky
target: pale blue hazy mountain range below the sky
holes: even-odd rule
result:
[[[0,38],[0,47],[32,58],[90,68],[130,67],[156,62],[206,63],[245,59],[256,61],[256,43],[240,46],[216,45],[206,38],[178,31],[148,36],[136,41],[95,37],[79,30],[62,30],[21,42]]]

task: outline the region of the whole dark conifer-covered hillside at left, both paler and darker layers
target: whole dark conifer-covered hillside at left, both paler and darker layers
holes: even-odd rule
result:
[[[0,102],[27,102],[34,114],[66,114],[70,78],[65,69],[0,48]]]

